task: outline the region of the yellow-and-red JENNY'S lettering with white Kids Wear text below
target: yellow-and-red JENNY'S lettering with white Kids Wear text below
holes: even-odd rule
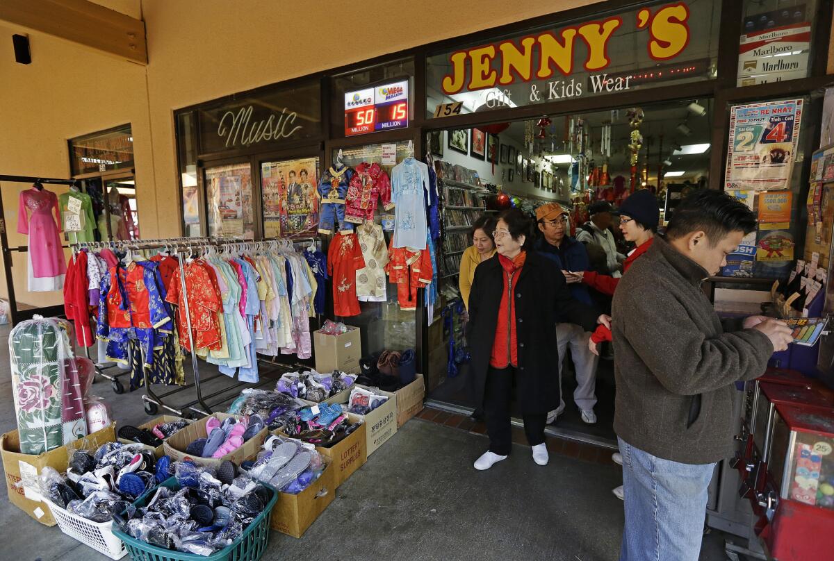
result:
[[[646,49],[652,59],[666,61],[683,53],[690,40],[689,17],[689,8],[683,2],[666,4],[654,10],[641,8],[636,12],[636,28],[648,33]],[[443,78],[443,92],[454,95],[464,90],[509,86],[534,79],[548,80],[554,78],[556,73],[570,77],[575,70],[575,53],[580,50],[585,51],[586,71],[605,70],[611,63],[608,53],[610,38],[622,25],[623,19],[613,16],[555,32],[548,30],[456,51],[450,55],[452,70]],[[620,91],[631,87],[628,78],[610,78],[602,73],[591,75],[588,85],[595,92]],[[555,80],[549,83],[549,98],[582,94],[582,83],[571,79],[567,84],[572,86],[573,95],[565,94],[565,81]],[[538,93],[537,90],[537,85],[531,86],[531,101],[534,101],[532,95]]]

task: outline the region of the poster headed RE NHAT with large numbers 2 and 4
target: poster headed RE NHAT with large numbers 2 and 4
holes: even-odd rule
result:
[[[801,116],[801,99],[734,106],[724,188],[787,188]]]

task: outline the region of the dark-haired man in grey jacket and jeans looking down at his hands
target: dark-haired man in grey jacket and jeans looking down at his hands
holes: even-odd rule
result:
[[[666,237],[614,296],[614,428],[623,458],[620,561],[696,561],[707,486],[733,453],[734,383],[765,372],[791,329],[773,319],[722,325],[701,283],[756,228],[745,204],[703,189],[676,208]]]

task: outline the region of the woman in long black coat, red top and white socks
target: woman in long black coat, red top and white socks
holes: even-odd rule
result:
[[[532,221],[520,210],[499,215],[494,237],[498,253],[475,269],[470,293],[470,372],[490,436],[475,468],[491,468],[510,453],[513,378],[533,459],[545,465],[545,420],[560,398],[556,323],[593,331],[606,318],[571,297],[553,261],[528,251]]]

